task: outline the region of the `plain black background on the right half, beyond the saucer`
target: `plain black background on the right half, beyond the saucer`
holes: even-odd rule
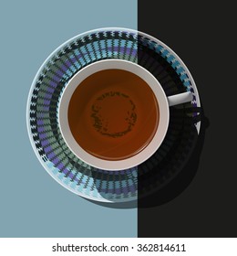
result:
[[[159,38],[184,61],[206,116],[201,155],[193,163],[198,166],[195,176],[169,202],[146,208],[138,202],[139,237],[237,237],[237,59],[232,3],[138,0],[139,31]]]

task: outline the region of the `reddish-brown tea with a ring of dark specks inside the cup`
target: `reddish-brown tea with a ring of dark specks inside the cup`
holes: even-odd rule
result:
[[[68,123],[77,144],[107,160],[138,154],[153,138],[159,117],[149,85],[122,69],[90,75],[77,86],[68,106]]]

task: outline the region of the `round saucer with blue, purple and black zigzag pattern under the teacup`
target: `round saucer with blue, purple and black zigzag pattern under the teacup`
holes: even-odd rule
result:
[[[193,100],[181,107],[195,119],[200,100],[189,70],[158,39],[127,28],[92,30],[57,48],[36,73],[28,96],[26,122],[31,144],[46,171],[81,197],[102,202],[138,198],[138,166],[122,171],[101,170],[77,158],[58,127],[58,102],[78,70],[101,59],[126,59],[148,69],[166,94],[191,91]],[[197,132],[200,122],[195,123]]]

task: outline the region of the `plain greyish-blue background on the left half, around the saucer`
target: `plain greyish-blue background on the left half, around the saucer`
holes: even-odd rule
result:
[[[60,44],[99,27],[137,29],[137,0],[1,1],[0,237],[137,237],[137,208],[108,208],[61,187],[36,158],[26,101]]]

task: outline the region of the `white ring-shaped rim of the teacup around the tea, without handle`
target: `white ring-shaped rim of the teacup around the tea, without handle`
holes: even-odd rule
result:
[[[69,101],[72,97],[72,94],[77,89],[77,86],[83,80],[88,78],[88,76],[104,69],[124,69],[136,74],[137,76],[139,76],[141,79],[145,80],[149,84],[149,87],[154,92],[157,98],[157,101],[159,102],[160,121],[153,139],[137,155],[133,155],[123,160],[108,161],[108,160],[100,159],[94,155],[88,154],[87,151],[85,151],[79,144],[77,144],[77,141],[75,140],[73,134],[71,133],[68,119],[67,119]],[[153,155],[156,152],[156,150],[159,148],[160,144],[162,143],[167,133],[167,129],[170,121],[170,110],[169,110],[167,97],[160,85],[160,82],[156,80],[156,78],[152,74],[150,74],[147,69],[144,69],[138,64],[127,61],[127,60],[106,59],[106,60],[101,60],[101,61],[92,63],[87,67],[85,67],[84,69],[79,70],[77,74],[71,80],[69,80],[69,82],[67,83],[67,87],[65,88],[59,102],[58,119],[59,119],[58,121],[59,121],[60,131],[62,133],[62,136],[67,146],[75,155],[77,155],[79,159],[81,159],[88,165],[92,165],[100,169],[116,171],[116,170],[128,169],[133,166],[139,165],[142,162],[146,161],[151,155]]]

